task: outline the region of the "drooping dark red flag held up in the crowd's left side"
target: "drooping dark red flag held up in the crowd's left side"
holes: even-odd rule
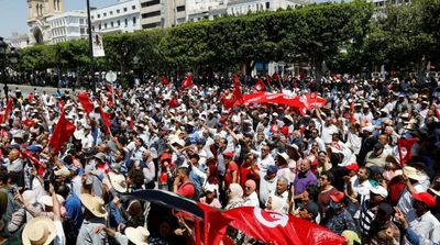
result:
[[[59,152],[64,143],[66,143],[75,132],[75,125],[66,120],[64,113],[64,109],[62,109],[62,114],[59,115],[59,120],[55,125],[55,130],[50,142],[55,154]]]

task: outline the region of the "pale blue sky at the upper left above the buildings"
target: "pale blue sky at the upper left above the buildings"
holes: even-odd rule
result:
[[[90,5],[102,8],[117,2],[117,0],[90,0]],[[66,11],[81,9],[86,9],[86,0],[65,0]],[[0,36],[10,37],[13,32],[26,34],[26,0],[0,0]]]

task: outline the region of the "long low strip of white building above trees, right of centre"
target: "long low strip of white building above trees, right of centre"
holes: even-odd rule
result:
[[[228,2],[228,14],[240,15],[246,14],[249,11],[276,11],[308,3],[310,3],[309,0],[230,0]]]

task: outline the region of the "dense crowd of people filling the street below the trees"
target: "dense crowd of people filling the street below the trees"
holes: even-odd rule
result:
[[[253,92],[248,83],[243,93]],[[299,97],[316,90],[307,79],[265,83]],[[89,91],[90,113],[72,91],[11,93],[0,125],[0,244],[194,243],[185,218],[127,194],[143,189],[296,215],[349,244],[440,244],[437,86],[328,78],[318,93],[326,105],[305,114],[272,103],[226,109],[229,85],[107,86]],[[62,110],[75,132],[54,152]],[[411,138],[410,151],[398,146]]]

